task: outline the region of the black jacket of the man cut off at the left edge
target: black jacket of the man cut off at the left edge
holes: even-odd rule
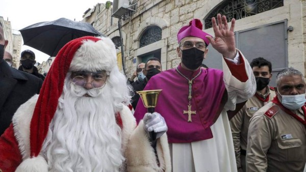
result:
[[[0,60],[0,135],[9,127],[17,108],[39,94],[42,80]]]

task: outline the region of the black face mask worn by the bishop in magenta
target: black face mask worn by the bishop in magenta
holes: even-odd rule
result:
[[[204,60],[204,51],[195,47],[182,50],[182,63],[191,70],[201,66]]]

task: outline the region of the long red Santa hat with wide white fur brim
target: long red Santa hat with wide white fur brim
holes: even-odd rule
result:
[[[110,38],[86,36],[68,42],[57,54],[43,82],[30,125],[31,158],[39,155],[57,110],[68,71],[111,71],[117,65]]]

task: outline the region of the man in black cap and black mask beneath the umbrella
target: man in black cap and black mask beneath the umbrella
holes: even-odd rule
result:
[[[43,74],[40,74],[37,70],[37,68],[34,66],[36,63],[35,61],[35,53],[29,49],[24,50],[21,52],[21,58],[20,58],[20,64],[18,70],[31,73],[35,75],[36,77],[39,77],[44,80],[45,76]]]

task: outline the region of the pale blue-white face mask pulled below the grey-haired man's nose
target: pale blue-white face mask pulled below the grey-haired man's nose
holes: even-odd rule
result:
[[[298,95],[281,95],[281,93],[278,94],[281,96],[282,104],[291,110],[299,109],[306,102],[305,94],[298,94]]]

